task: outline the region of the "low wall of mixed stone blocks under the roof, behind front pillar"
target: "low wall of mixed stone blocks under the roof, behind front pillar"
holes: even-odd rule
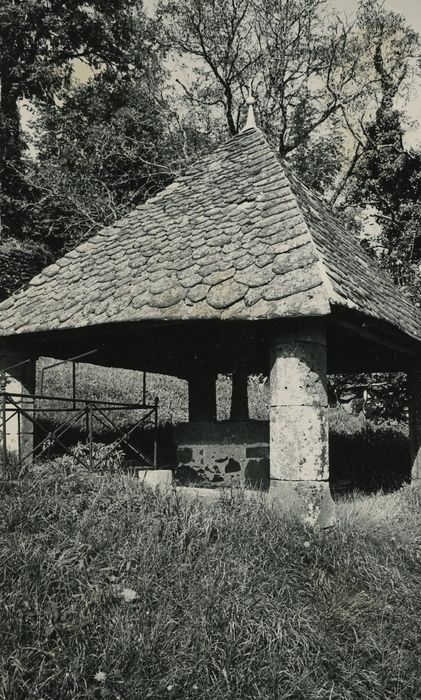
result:
[[[177,476],[183,482],[269,486],[269,423],[181,423],[174,429]]]

